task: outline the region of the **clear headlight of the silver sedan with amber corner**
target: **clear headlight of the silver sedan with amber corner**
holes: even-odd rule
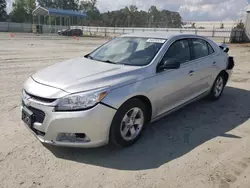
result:
[[[107,94],[107,89],[71,94],[58,99],[55,111],[74,111],[91,108],[99,103]]]

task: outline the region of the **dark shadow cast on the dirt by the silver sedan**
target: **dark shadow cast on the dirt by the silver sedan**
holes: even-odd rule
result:
[[[185,155],[215,137],[240,139],[228,134],[250,117],[250,91],[226,87],[216,102],[197,101],[148,125],[132,147],[112,149],[46,146],[56,157],[121,170],[145,170]]]

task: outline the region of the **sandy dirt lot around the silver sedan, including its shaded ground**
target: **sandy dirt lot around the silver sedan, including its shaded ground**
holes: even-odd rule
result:
[[[0,187],[249,188],[250,45],[231,45],[236,67],[221,100],[150,125],[133,147],[46,148],[35,139],[20,121],[25,79],[104,41],[0,33]]]

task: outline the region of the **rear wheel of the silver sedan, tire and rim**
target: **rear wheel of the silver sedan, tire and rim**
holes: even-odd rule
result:
[[[211,100],[218,100],[225,88],[226,79],[223,74],[219,74],[214,81],[213,87],[209,93],[209,98]]]

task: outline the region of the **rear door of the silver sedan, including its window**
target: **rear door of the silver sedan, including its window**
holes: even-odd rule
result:
[[[213,83],[216,71],[216,53],[212,46],[203,39],[194,38],[191,40],[192,60],[196,62],[195,90],[203,93],[210,89]]]

